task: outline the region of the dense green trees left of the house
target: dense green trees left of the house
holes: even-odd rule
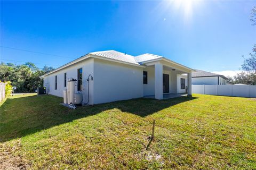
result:
[[[10,81],[13,87],[17,87],[15,92],[35,92],[37,87],[43,87],[43,79],[40,77],[52,70],[54,68],[51,66],[39,69],[31,62],[20,65],[1,62],[0,80],[2,82]]]

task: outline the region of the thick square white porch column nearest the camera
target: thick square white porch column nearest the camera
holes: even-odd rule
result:
[[[155,64],[155,99],[163,99],[163,64]]]

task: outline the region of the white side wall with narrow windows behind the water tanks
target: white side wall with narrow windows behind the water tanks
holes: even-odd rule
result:
[[[44,78],[44,87],[46,87],[46,83],[49,84],[49,94],[54,96],[63,97],[63,90],[67,89],[67,87],[64,87],[64,73],[67,73],[67,80],[69,78],[73,78],[77,80],[77,70],[80,68],[83,68],[83,102],[86,103],[88,99],[87,94],[87,88],[88,88],[88,82],[86,79],[88,78],[89,74],[93,76],[93,58],[88,58],[85,61],[76,63],[74,65],[71,65],[69,67],[66,67],[65,69],[59,70],[57,72],[54,72],[50,75],[46,75]],[[55,75],[57,75],[57,90],[55,90]],[[47,87],[46,87],[47,88]],[[89,104],[92,104],[93,101],[93,81],[90,81],[90,102]]]

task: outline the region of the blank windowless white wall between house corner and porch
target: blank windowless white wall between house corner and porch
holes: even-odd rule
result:
[[[143,97],[143,68],[94,59],[94,104]]]

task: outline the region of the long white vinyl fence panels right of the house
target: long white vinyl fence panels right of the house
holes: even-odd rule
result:
[[[193,94],[256,97],[256,86],[250,85],[192,85]]]

